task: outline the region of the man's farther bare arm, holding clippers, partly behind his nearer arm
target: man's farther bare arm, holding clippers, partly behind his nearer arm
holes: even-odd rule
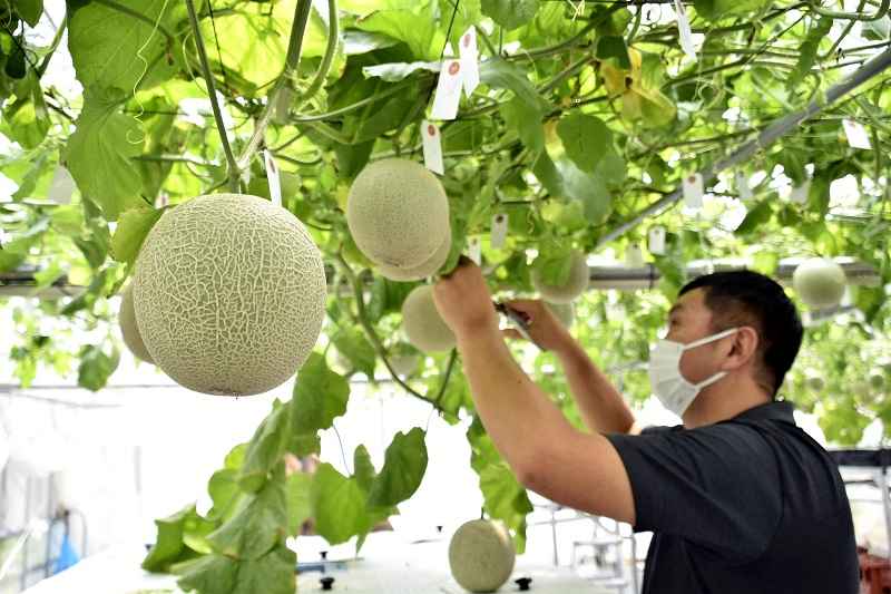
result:
[[[557,354],[585,425],[594,432],[639,431],[634,413],[609,379],[590,360],[569,331],[541,301],[517,300],[510,306],[529,319],[529,333],[541,348]],[[519,337],[515,330],[506,331]]]

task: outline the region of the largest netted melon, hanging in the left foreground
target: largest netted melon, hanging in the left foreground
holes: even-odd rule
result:
[[[134,305],[148,352],[177,383],[265,392],[294,374],[319,338],[322,256],[303,224],[268,201],[199,196],[146,237]]]

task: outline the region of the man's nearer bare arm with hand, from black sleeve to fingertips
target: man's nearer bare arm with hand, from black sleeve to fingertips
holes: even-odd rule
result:
[[[458,339],[482,423],[520,481],[556,503],[633,524],[621,459],[605,437],[569,425],[513,361],[479,267],[459,266],[437,285],[435,300]]]

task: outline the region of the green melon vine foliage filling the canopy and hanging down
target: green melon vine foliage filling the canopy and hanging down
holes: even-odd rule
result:
[[[645,250],[663,274],[656,290],[591,291],[577,303],[575,334],[614,369],[646,358],[691,261],[742,257],[770,274],[785,256],[856,257],[879,271],[881,283],[852,288],[852,313],[809,329],[783,393],[815,412],[840,444],[858,442],[874,419],[891,427],[889,75],[722,174],[712,188],[718,199],[698,215],[669,210],[605,241],[685,175],[887,50],[887,3],[865,0],[863,12],[845,14],[814,0],[695,0],[688,12],[703,41],[694,61],[679,49],[673,18],[649,18],[656,4],[329,0],[307,12],[302,0],[200,0],[200,38],[231,123],[232,159],[206,104],[197,116],[187,108],[208,91],[184,2],[69,0],[56,38],[37,47],[27,33],[42,8],[41,0],[0,6],[0,132],[17,143],[0,155],[0,167],[18,185],[0,203],[0,273],[37,265],[39,288],[67,280],[86,290],[17,306],[10,364],[22,384],[46,367],[77,373],[91,390],[105,386],[120,349],[109,299],[131,273],[145,234],[163,208],[200,194],[238,187],[267,196],[261,140],[284,171],[284,206],[311,230],[329,264],[325,351],[300,371],[292,399],[276,405],[213,476],[213,510],[200,516],[189,507],[158,520],[145,566],[182,573],[184,587],[292,592],[294,559],[284,538],[304,518],[314,517],[331,542],[362,539],[420,485],[420,428],[396,436],[380,470],[363,447],[352,476],[325,465],[311,479],[286,477],[282,457],[317,451],[319,431],[345,411],[351,374],[392,371],[391,358],[419,354],[399,338],[400,305],[413,285],[376,274],[350,238],[343,208],[351,179],[369,160],[420,159],[437,60],[470,26],[480,36],[482,86],[462,99],[456,121],[442,125],[451,263],[479,237],[492,289],[529,294],[536,261],[558,282],[572,249],[624,257],[646,245],[650,227],[664,226],[667,253]],[[302,39],[294,33],[301,14]],[[865,42],[840,50],[855,28]],[[78,96],[43,80],[63,31],[84,88]],[[848,145],[845,118],[866,127],[872,150]],[[60,165],[76,183],[70,201],[51,197]],[[753,194],[742,221],[732,216],[745,197],[736,174]],[[810,183],[802,202],[787,199],[775,182],[782,176],[794,186]],[[845,176],[858,195],[844,208],[832,206],[830,186]],[[496,250],[489,230],[500,213],[510,233]],[[52,332],[41,330],[47,319]],[[71,337],[84,331],[98,339],[72,356]],[[450,422],[473,415],[454,353],[417,361],[408,378],[395,378],[407,397],[430,402]],[[555,363],[539,354],[535,377],[580,426]],[[811,369],[825,377],[825,391],[809,390]],[[884,382],[864,383],[870,373]],[[623,379],[633,401],[648,396],[639,370]],[[507,522],[521,548],[531,509],[526,491],[478,420],[468,440],[486,510]]]

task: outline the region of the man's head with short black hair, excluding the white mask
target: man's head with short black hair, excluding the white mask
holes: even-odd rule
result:
[[[795,305],[763,274],[707,274],[681,290],[666,338],[688,343],[731,328],[740,331],[687,351],[682,373],[694,383],[717,371],[750,373],[775,397],[801,347],[803,329]]]

